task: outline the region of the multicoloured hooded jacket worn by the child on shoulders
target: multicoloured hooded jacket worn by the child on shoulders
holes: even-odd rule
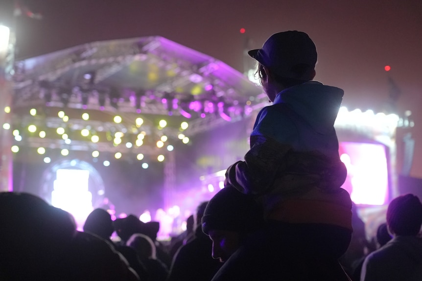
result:
[[[257,196],[267,218],[351,229],[352,202],[340,188],[347,170],[334,129],[343,94],[316,81],[281,91],[258,113],[251,149],[229,167],[227,183]]]

